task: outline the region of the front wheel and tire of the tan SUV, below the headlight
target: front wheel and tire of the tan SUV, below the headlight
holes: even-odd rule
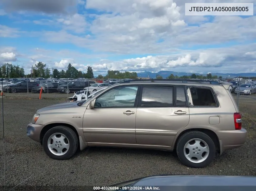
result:
[[[56,142],[55,144],[55,140],[50,137],[54,137],[55,140],[60,140],[61,142]],[[78,137],[71,128],[66,126],[56,126],[45,133],[43,138],[43,148],[48,157],[55,160],[66,160],[71,158],[77,151]],[[50,148],[53,148],[52,151]],[[59,154],[57,149],[59,150]],[[60,151],[64,154],[60,153]]]

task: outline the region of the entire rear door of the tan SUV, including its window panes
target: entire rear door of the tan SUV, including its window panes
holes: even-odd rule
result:
[[[137,144],[172,146],[189,123],[184,86],[144,85],[136,113]]]

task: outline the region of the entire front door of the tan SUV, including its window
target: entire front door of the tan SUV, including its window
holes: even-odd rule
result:
[[[89,146],[90,143],[136,144],[139,87],[114,87],[94,99],[95,108],[88,107],[83,119],[83,132]]]

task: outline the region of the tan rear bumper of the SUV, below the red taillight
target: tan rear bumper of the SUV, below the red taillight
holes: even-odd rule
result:
[[[244,145],[247,138],[247,131],[241,130],[230,130],[230,131],[215,131],[220,142],[220,154],[223,151],[238,148]]]

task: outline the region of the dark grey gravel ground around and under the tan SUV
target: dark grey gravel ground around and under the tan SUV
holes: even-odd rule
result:
[[[243,126],[248,130],[246,144],[216,156],[211,165],[202,169],[182,165],[175,153],[143,149],[88,148],[78,151],[70,160],[52,160],[39,143],[26,136],[26,126],[36,110],[61,102],[63,100],[4,99],[7,186],[17,185],[28,177],[20,185],[107,186],[160,174],[256,176],[256,125],[251,120],[255,120],[254,99],[239,100],[240,112],[251,118],[243,119]],[[0,105],[2,113],[2,103]],[[0,124],[1,186],[4,184],[2,120]]]

